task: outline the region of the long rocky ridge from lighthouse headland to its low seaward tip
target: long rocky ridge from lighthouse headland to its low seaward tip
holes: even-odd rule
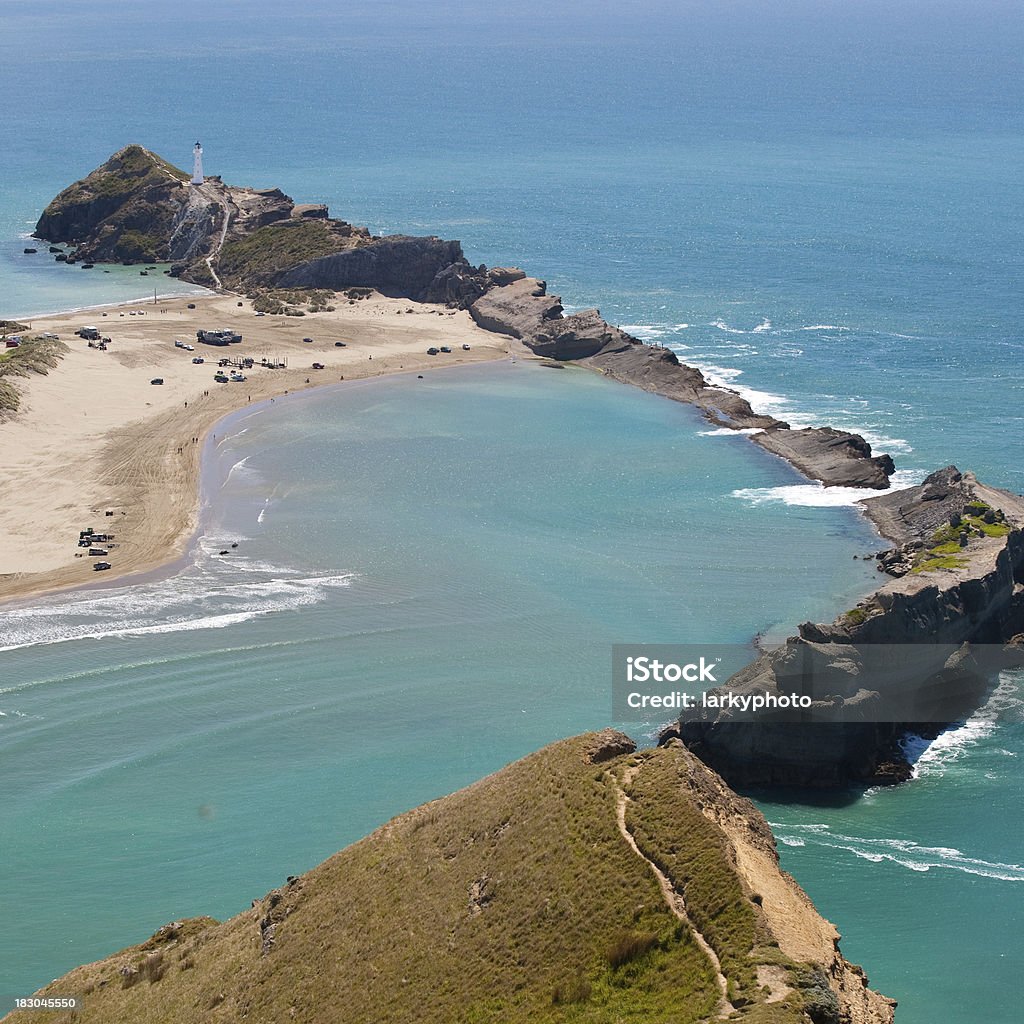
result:
[[[458,242],[374,236],[330,217],[324,206],[297,205],[280,188],[226,185],[216,177],[191,184],[184,171],[140,145],[126,146],[61,191],[35,234],[73,246],[73,260],[166,260],[182,280],[264,302],[276,301],[275,292],[374,289],[445,303],[539,355],[694,404],[720,426],[756,429],[756,443],[826,486],[885,489],[894,471],[889,456],[873,456],[863,437],[830,427],[793,430],[759,416],[737,392],[710,385],[698,369],[607,324],[597,309],[565,315],[545,282],[516,268],[473,266]]]

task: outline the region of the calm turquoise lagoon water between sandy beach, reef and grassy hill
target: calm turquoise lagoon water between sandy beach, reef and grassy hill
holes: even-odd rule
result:
[[[612,643],[745,643],[852,603],[860,517],[773,506],[766,544],[733,484],[796,474],[702,424],[519,362],[353,382],[218,430],[186,567],[0,613],[20,923],[0,988],[237,912],[393,814],[603,727]],[[728,544],[708,559],[712,524]],[[769,577],[772,600],[752,586]]]

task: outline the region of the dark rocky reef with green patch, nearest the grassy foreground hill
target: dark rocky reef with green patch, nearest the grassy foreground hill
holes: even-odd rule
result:
[[[903,735],[936,735],[978,707],[997,670],[1024,664],[1024,499],[950,466],[862,505],[897,541],[879,556],[893,579],[833,623],[804,623],[713,691],[796,693],[810,707],[701,710],[663,736],[732,785],[902,781]]]

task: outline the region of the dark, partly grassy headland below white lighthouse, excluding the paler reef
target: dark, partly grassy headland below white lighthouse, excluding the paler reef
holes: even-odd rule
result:
[[[465,305],[490,285],[458,242],[374,237],[330,217],[326,206],[296,205],[280,188],[227,185],[216,176],[193,184],[140,145],[61,191],[35,234],[75,246],[72,259],[169,261],[175,276],[238,291],[366,287]]]

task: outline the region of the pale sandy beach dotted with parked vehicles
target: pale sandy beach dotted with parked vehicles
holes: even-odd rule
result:
[[[106,351],[75,336],[84,325],[112,339]],[[516,344],[465,311],[378,295],[339,297],[336,311],[301,317],[256,316],[236,295],[183,296],[35,317],[31,327],[71,351],[47,376],[18,378],[22,408],[0,422],[0,600],[106,583],[180,556],[197,525],[203,440],[233,410],[342,378],[502,358]],[[198,330],[221,328],[242,343],[197,343]],[[427,354],[441,345],[452,353]],[[245,382],[214,382],[219,358],[245,356],[255,359]],[[263,357],[288,368],[263,368]],[[162,386],[150,383],[156,377]],[[78,547],[89,527],[114,535],[105,572]]]

